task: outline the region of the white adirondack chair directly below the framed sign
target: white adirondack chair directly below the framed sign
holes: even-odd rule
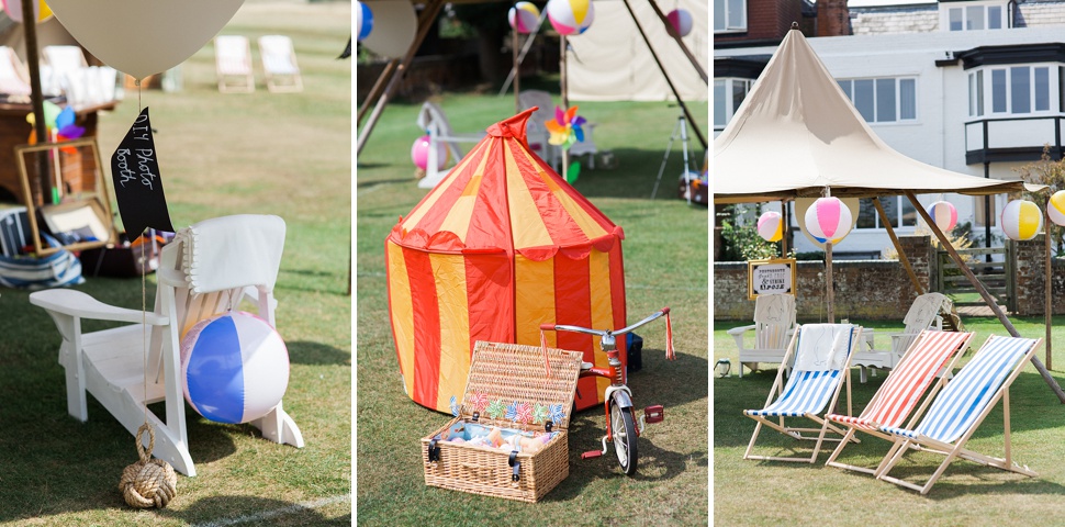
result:
[[[795,329],[795,296],[791,294],[762,294],[754,301],[754,324],[733,327],[728,334],[736,339],[740,352],[740,378],[743,367],[758,370],[759,362],[780,365],[787,351],[788,339]],[[743,336],[754,332],[754,347],[747,347]],[[787,365],[782,366],[787,368]]]

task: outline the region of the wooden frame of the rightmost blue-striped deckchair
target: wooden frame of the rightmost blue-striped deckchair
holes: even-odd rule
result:
[[[991,337],[988,337],[987,341],[985,341],[984,345],[986,346],[991,338],[994,338],[994,335]],[[1006,337],[1001,337],[1001,338],[1006,338]],[[980,414],[976,417],[976,419],[968,427],[968,429],[965,430],[965,434],[963,434],[962,437],[955,440],[953,445],[949,442],[940,441],[937,439],[932,439],[930,437],[924,436],[923,434],[916,439],[896,437],[895,445],[892,446],[892,449],[887,452],[887,456],[884,457],[884,459],[881,461],[881,464],[877,466],[876,468],[876,472],[875,472],[876,478],[878,480],[887,481],[890,483],[895,483],[896,485],[899,485],[899,486],[905,486],[907,489],[918,491],[922,495],[924,495],[924,494],[928,494],[928,492],[932,489],[932,485],[934,485],[935,482],[939,481],[940,476],[943,475],[943,472],[946,471],[946,468],[956,458],[962,458],[962,459],[973,461],[975,463],[988,466],[988,467],[995,467],[997,469],[1006,470],[1009,472],[1016,472],[1030,478],[1034,478],[1039,475],[1034,471],[1030,470],[1028,467],[1022,468],[1013,463],[1011,441],[1010,441],[1010,423],[1009,423],[1010,421],[1009,419],[1009,388],[1017,379],[1017,377],[1020,374],[1021,370],[1024,368],[1024,365],[1027,365],[1030,360],[1032,360],[1032,357],[1035,356],[1035,351],[1039,350],[1039,347],[1042,344],[1043,344],[1042,338],[1036,338],[1034,340],[1032,346],[1024,354],[1023,360],[1020,360],[1017,362],[1017,366],[1013,367],[1013,371],[1010,372],[1009,377],[1007,377],[1005,381],[1002,381],[1002,384],[998,388],[997,392],[995,393],[995,396],[991,397],[990,402],[988,402],[987,405],[984,407],[984,411],[980,412]],[[986,456],[965,448],[965,444],[968,442],[969,438],[973,436],[976,429],[979,428],[979,425],[984,423],[984,419],[987,417],[988,414],[990,414],[991,410],[995,408],[999,400],[1002,401],[1002,428],[1004,428],[1002,440],[1004,440],[1005,450],[1006,450],[1005,458]],[[929,480],[923,485],[910,483],[908,481],[903,481],[898,478],[893,478],[887,475],[888,472],[890,472],[890,470],[903,458],[903,455],[905,455],[913,446],[932,447],[932,448],[922,448],[922,449],[930,452],[944,453],[946,456],[943,459],[943,461],[940,463],[939,468],[935,469],[935,472],[932,474],[932,476],[929,478]]]

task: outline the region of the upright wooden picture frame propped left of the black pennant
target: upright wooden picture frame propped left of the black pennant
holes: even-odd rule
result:
[[[14,149],[32,246],[38,257],[60,249],[77,251],[116,244],[111,198],[94,137],[19,145]],[[51,184],[34,197],[29,168],[42,162],[42,154],[46,154]],[[53,195],[61,198],[58,203],[47,203]],[[42,221],[58,246],[44,243]]]

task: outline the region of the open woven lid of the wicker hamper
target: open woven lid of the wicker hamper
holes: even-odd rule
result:
[[[583,354],[547,348],[550,377],[543,348],[519,344],[478,340],[459,415],[481,419],[554,428],[570,425],[570,408]]]

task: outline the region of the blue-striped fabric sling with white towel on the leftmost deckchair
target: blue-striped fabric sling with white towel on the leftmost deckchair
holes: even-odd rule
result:
[[[832,332],[831,339],[818,337]],[[795,370],[788,378],[781,396],[763,412],[780,415],[818,414],[832,399],[836,386],[842,380],[842,365],[854,348],[856,326],[850,324],[806,324],[800,327],[796,343]],[[825,333],[818,333],[825,332]],[[843,333],[845,332],[845,333]],[[827,357],[825,361],[816,357]],[[805,365],[823,363],[814,369]]]

